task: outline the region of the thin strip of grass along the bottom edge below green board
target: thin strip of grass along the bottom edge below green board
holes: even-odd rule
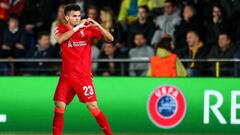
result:
[[[0,132],[0,135],[51,135],[45,132]],[[103,135],[103,133],[64,133],[63,135]],[[190,134],[190,133],[114,133],[113,135],[237,135],[237,134]]]

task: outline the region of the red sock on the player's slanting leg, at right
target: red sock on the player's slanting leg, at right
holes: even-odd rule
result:
[[[90,112],[95,117],[98,125],[102,128],[105,135],[112,135],[112,131],[106,116],[98,108],[94,108]]]

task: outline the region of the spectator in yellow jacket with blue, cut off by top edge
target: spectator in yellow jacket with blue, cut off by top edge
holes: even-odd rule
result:
[[[148,0],[123,0],[118,15],[118,21],[131,24],[137,19],[138,7],[147,5]]]

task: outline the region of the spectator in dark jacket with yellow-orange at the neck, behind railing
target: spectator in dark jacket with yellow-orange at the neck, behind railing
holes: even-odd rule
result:
[[[188,48],[184,49],[180,54],[181,58],[192,59],[192,62],[187,64],[187,72],[189,76],[203,76],[206,70],[206,65],[203,62],[194,62],[197,59],[205,59],[208,53],[207,48],[200,40],[199,35],[195,31],[187,33]]]

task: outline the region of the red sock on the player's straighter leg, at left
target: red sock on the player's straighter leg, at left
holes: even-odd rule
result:
[[[64,126],[64,119],[63,119],[64,109],[62,108],[55,108],[54,109],[54,118],[53,118],[53,135],[62,135],[62,130]]]

